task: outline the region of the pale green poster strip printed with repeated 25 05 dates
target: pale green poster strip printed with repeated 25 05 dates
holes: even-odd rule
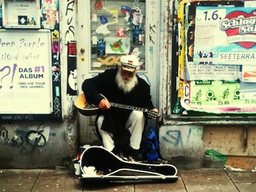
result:
[[[184,86],[181,106],[188,111],[216,114],[255,113],[255,89],[245,92],[242,85],[238,81],[191,81]]]

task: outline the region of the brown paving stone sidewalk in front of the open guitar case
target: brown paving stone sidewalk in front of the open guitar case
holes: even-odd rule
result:
[[[73,171],[0,169],[0,192],[255,192],[256,172],[224,169],[178,170],[176,182],[81,182]]]

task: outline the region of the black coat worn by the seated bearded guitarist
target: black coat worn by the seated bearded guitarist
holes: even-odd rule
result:
[[[150,86],[142,78],[138,77],[138,84],[134,89],[125,94],[118,88],[115,78],[118,69],[107,69],[97,77],[87,79],[82,85],[86,99],[90,103],[99,104],[104,95],[108,101],[131,106],[153,109],[151,101]],[[111,107],[102,111],[105,115],[102,129],[112,133],[121,132],[125,128],[131,110]]]

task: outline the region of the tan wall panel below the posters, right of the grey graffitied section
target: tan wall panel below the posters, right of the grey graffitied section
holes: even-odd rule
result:
[[[226,165],[251,171],[256,167],[255,125],[205,125],[204,150],[227,156]]]

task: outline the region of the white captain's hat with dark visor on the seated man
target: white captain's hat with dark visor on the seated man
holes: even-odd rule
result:
[[[135,71],[139,66],[139,60],[135,55],[125,55],[120,58],[122,69],[126,71]]]

